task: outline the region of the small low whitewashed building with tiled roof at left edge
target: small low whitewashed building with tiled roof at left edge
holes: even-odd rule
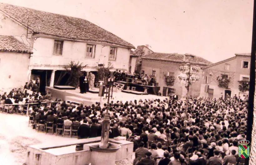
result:
[[[14,37],[0,35],[0,91],[25,85],[31,53]]]

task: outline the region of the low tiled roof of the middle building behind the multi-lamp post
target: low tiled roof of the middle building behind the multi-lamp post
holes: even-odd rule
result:
[[[192,54],[151,53],[151,54],[144,55],[142,58],[143,59],[158,59],[158,60],[173,61],[173,62],[183,62],[184,55],[192,55]],[[203,59],[202,57],[198,57],[198,56],[194,56],[194,58],[192,58],[190,60],[190,62],[194,63],[194,64],[202,64],[202,65],[212,64],[208,60]]]

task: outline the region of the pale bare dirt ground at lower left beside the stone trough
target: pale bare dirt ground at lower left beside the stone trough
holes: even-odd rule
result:
[[[31,126],[28,126],[28,117],[0,112],[0,164],[23,165],[26,163],[27,147],[29,145],[74,139],[76,138],[37,132]],[[116,165],[131,164],[128,160],[116,162]]]

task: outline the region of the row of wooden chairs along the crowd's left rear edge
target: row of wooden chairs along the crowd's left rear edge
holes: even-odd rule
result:
[[[54,123],[45,121],[45,120],[38,120],[36,121],[33,116],[29,116],[28,126],[34,125],[35,129],[39,132],[40,130],[45,132],[46,134],[48,132],[52,132],[54,134]],[[73,125],[73,124],[66,124],[63,123],[57,123],[56,129],[55,129],[55,135],[62,134],[62,136],[70,136],[73,135],[77,136],[77,131],[79,125]]]

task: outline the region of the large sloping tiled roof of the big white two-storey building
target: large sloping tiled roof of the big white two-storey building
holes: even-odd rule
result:
[[[23,26],[27,27],[28,24],[28,28],[35,33],[73,40],[107,42],[135,49],[132,44],[81,18],[43,12],[6,3],[0,3],[0,11],[12,17]]]

